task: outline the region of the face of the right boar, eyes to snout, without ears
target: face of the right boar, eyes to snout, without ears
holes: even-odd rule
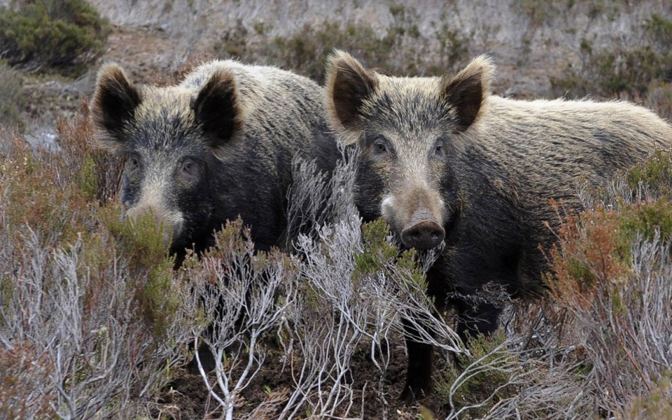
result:
[[[363,216],[382,216],[405,246],[417,249],[443,241],[447,218],[441,180],[449,147],[436,127],[423,128],[409,131],[368,121],[356,181]]]

